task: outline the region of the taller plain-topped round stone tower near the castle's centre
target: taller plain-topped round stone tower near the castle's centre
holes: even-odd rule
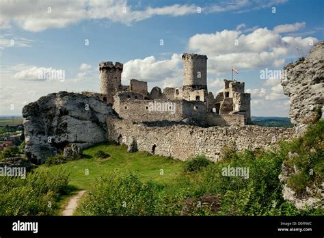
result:
[[[207,56],[183,54],[183,88],[207,89]]]

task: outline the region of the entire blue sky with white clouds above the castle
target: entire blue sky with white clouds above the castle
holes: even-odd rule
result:
[[[189,52],[208,56],[214,95],[233,65],[252,94],[252,116],[287,116],[280,80],[260,79],[260,70],[307,55],[324,31],[316,0],[15,2],[0,3],[0,115],[19,115],[51,92],[98,92],[101,61],[124,63],[124,85],[180,87],[180,56]],[[65,79],[39,79],[44,70],[64,70]]]

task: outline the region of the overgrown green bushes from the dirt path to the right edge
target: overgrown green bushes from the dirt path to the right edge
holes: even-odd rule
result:
[[[293,142],[270,150],[223,148],[217,163],[196,157],[185,163],[176,183],[162,187],[135,174],[114,174],[98,181],[83,199],[81,215],[323,215],[321,207],[301,211],[282,197],[282,163],[295,166],[288,185],[297,192],[323,178],[324,122],[311,125]],[[297,157],[290,157],[295,153]],[[224,174],[242,168],[248,174]],[[312,168],[314,174],[310,175]],[[190,171],[190,172],[189,172]],[[194,173],[192,173],[194,172]]]

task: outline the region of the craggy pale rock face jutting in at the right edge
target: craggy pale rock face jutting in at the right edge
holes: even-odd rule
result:
[[[284,70],[281,84],[290,97],[289,117],[301,133],[307,119],[314,116],[314,109],[324,106],[324,42],[317,43],[304,60],[288,64]]]

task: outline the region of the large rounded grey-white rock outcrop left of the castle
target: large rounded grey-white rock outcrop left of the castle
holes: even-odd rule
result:
[[[83,94],[58,92],[42,96],[23,108],[25,152],[33,163],[44,163],[66,145],[81,148],[107,140],[106,102]]]

